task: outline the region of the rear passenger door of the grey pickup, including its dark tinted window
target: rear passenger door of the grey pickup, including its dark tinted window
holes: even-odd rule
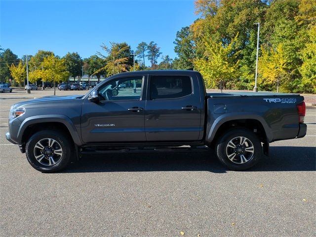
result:
[[[197,141],[203,131],[197,79],[173,74],[150,76],[148,83],[147,141]]]

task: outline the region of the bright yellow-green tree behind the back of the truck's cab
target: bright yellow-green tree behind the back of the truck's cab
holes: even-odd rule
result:
[[[238,35],[237,35],[238,36]],[[204,57],[194,61],[195,68],[202,74],[206,87],[220,85],[222,91],[227,83],[233,83],[238,77],[239,51],[235,50],[237,36],[230,44],[224,46],[210,38],[204,39]]]

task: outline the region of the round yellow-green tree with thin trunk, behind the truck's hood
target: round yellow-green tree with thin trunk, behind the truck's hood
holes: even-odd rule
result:
[[[70,73],[67,71],[65,59],[60,59],[52,54],[44,58],[41,66],[43,67],[42,77],[50,78],[54,82],[54,95],[56,95],[56,82],[69,78]]]

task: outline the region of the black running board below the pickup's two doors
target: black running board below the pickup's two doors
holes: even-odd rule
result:
[[[143,149],[106,149],[106,150],[90,150],[84,149],[80,151],[80,155],[101,155],[101,154],[126,154],[126,153],[194,153],[194,152],[209,152],[207,146],[199,146],[191,148],[190,146],[183,147],[165,147],[165,148],[143,148]]]

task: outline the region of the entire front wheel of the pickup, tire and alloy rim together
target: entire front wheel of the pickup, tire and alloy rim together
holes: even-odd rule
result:
[[[64,169],[71,158],[72,144],[62,132],[44,130],[35,133],[26,144],[26,157],[41,172]]]

